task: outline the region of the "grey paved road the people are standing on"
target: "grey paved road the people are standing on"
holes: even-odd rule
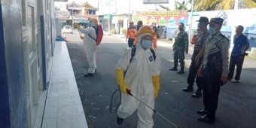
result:
[[[104,37],[98,49],[97,73],[93,78],[84,78],[83,44],[78,38],[78,33],[68,34],[69,55],[71,56],[78,90],[84,106],[87,123],[90,128],[135,128],[137,115],[124,120],[122,126],[116,124],[116,112],[110,113],[110,99],[115,84],[114,66],[127,46],[123,38]],[[157,48],[158,57],[161,58],[161,88],[156,99],[155,109],[182,128],[252,128],[256,126],[256,61],[245,59],[245,68],[242,70],[240,84],[229,83],[221,87],[218,111],[215,124],[206,124],[197,121],[197,110],[203,108],[202,98],[191,98],[192,93],[182,92],[186,87],[187,71],[184,75],[169,72],[173,66],[171,44],[161,43]],[[186,55],[189,66],[190,54]],[[117,102],[118,95],[114,96]],[[165,120],[154,114],[154,128],[171,128]]]

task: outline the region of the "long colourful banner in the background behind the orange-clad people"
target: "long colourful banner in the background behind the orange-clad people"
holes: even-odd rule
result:
[[[178,26],[178,23],[187,24],[187,11],[139,11],[132,19],[134,23],[142,20],[145,25]]]

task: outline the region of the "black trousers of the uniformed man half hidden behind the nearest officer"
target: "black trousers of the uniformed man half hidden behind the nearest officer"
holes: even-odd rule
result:
[[[188,88],[193,88],[194,85],[194,80],[197,77],[197,71],[200,68],[202,62],[203,62],[203,56],[200,58],[198,65],[196,65],[196,56],[199,53],[199,51],[194,51],[192,58],[191,58],[191,63],[189,67],[189,72],[187,76],[187,84]],[[196,78],[196,83],[197,83],[197,92],[196,93],[201,93],[203,85],[202,82],[200,82],[202,78],[197,77]]]

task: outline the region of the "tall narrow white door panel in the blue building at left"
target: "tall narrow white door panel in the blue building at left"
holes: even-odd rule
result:
[[[26,106],[28,114],[28,127],[35,122],[38,108],[38,51],[35,40],[35,8],[26,6],[26,42],[24,43],[26,64]],[[24,33],[23,33],[24,34]]]

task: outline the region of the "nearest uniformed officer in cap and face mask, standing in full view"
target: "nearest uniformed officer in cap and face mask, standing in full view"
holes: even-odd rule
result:
[[[203,104],[204,109],[197,111],[203,114],[197,120],[214,123],[215,112],[218,107],[218,94],[221,86],[227,84],[228,74],[228,39],[221,34],[223,19],[212,18],[209,23],[211,36],[206,41],[203,64],[197,72],[203,77]]]

